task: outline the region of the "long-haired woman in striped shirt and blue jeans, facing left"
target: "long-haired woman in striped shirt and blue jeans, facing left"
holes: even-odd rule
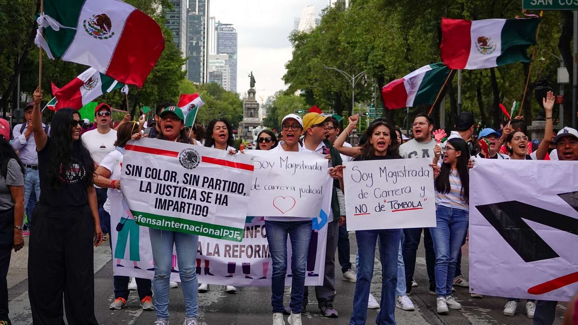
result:
[[[468,231],[469,149],[461,138],[449,139],[443,148],[442,170],[435,178],[435,228],[429,228],[435,252],[437,312],[461,309],[451,296],[455,263]]]

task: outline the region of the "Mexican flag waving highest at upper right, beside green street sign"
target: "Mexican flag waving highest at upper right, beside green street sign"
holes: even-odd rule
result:
[[[444,64],[450,69],[484,69],[530,62],[540,19],[442,19]]]

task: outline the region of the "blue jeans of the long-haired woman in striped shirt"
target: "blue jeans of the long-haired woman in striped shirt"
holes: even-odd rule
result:
[[[435,228],[429,228],[435,252],[435,293],[438,297],[451,296],[455,264],[468,232],[469,211],[447,206],[436,206]]]

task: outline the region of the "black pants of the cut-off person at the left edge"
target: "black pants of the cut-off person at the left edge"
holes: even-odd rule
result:
[[[8,267],[14,243],[14,209],[0,212],[0,321],[8,319]]]

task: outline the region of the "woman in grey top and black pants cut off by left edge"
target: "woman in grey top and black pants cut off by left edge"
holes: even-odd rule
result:
[[[8,319],[8,267],[12,249],[24,247],[24,165],[10,140],[10,125],[0,119],[0,324]]]

